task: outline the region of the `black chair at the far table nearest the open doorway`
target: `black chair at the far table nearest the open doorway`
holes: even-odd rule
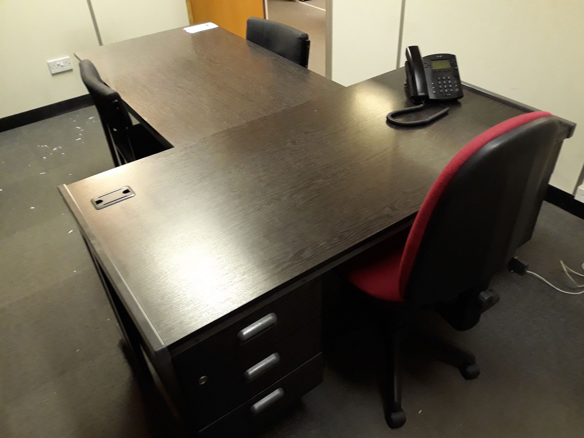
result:
[[[250,17],[246,37],[258,46],[267,48],[298,65],[308,67],[310,40],[307,33],[272,20]]]

